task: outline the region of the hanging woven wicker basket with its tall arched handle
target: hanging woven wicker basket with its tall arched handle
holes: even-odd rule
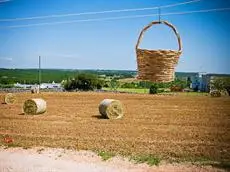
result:
[[[177,36],[179,50],[147,50],[140,49],[139,44],[146,30],[155,24],[165,24],[169,26]],[[182,53],[182,43],[176,28],[167,21],[153,21],[145,26],[136,44],[137,79],[152,82],[170,82],[174,80],[174,70]]]

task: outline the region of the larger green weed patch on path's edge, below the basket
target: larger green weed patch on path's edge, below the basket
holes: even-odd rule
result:
[[[161,159],[154,155],[133,156],[131,160],[134,160],[136,163],[147,163],[150,166],[159,165],[161,162]]]

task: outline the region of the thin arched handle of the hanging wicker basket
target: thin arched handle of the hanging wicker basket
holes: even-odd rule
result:
[[[150,27],[152,27],[154,24],[162,24],[162,23],[165,24],[165,25],[167,25],[167,26],[169,26],[174,31],[174,33],[177,36],[177,41],[178,41],[178,45],[179,45],[179,50],[178,51],[182,51],[182,42],[181,42],[181,39],[180,39],[180,35],[177,32],[176,28],[171,23],[168,23],[167,21],[153,21],[150,24],[148,24],[147,26],[145,26],[142,29],[142,31],[141,31],[141,33],[139,35],[139,38],[138,38],[138,41],[137,41],[137,44],[136,44],[136,50],[139,47],[139,44],[141,42],[141,39],[142,39],[143,34],[145,33],[145,31],[148,30]]]

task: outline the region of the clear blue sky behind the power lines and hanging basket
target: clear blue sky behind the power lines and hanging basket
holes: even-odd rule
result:
[[[155,7],[189,0],[0,0],[0,20],[129,8]],[[230,7],[230,0],[201,0],[162,9],[162,13]],[[0,67],[136,70],[135,44],[141,29],[157,16],[21,28],[5,26],[92,18],[155,14],[157,10],[105,13],[38,20],[0,22]],[[182,38],[183,54],[176,71],[230,74],[230,11],[162,16]],[[141,43],[148,49],[177,49],[173,32],[152,27]]]

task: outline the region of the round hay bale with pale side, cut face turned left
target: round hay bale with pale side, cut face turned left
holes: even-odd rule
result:
[[[23,111],[28,115],[42,114],[46,111],[46,101],[43,99],[29,99],[24,102]]]

